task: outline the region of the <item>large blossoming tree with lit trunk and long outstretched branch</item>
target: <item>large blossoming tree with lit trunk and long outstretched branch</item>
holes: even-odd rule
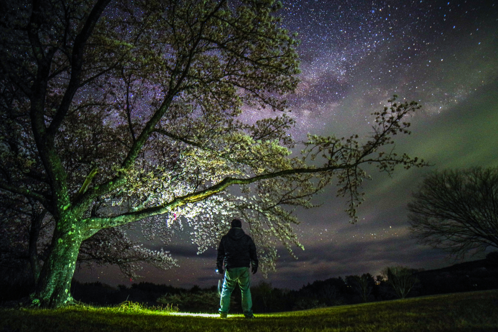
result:
[[[312,207],[332,180],[356,221],[368,177],[362,165],[386,172],[424,165],[392,149],[393,135],[409,133],[402,118],[419,108],[413,102],[390,100],[373,113],[373,132],[362,141],[292,140],[285,94],[298,83],[297,41],[280,27],[279,6],[7,3],[0,22],[0,190],[53,220],[33,303],[70,303],[82,242],[135,221],[147,238],[163,240],[186,223],[203,251],[232,216],[241,217],[268,271],[277,243],[289,252],[301,246],[293,209]],[[275,116],[240,117],[262,108]],[[118,233],[108,232],[106,241]],[[174,264],[167,252],[150,254],[163,268]]]

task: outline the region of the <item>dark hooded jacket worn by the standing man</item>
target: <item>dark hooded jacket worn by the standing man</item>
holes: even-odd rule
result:
[[[257,267],[256,246],[252,238],[242,228],[230,228],[228,233],[221,238],[218,247],[216,266],[218,269],[231,269],[234,267]]]

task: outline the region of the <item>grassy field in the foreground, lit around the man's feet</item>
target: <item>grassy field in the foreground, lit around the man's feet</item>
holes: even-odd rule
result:
[[[498,290],[298,312],[257,315],[164,313],[138,308],[71,307],[59,310],[1,309],[0,332],[11,331],[203,331],[498,332]]]

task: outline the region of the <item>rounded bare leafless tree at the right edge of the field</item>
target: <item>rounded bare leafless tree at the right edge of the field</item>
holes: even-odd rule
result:
[[[498,169],[434,172],[413,198],[410,230],[421,243],[457,257],[498,248]]]

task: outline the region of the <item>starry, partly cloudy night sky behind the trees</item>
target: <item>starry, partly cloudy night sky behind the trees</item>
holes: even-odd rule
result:
[[[398,152],[433,166],[392,177],[371,173],[364,185],[360,221],[350,224],[346,201],[335,187],[320,194],[313,210],[300,210],[296,227],[305,250],[294,260],[279,249],[276,272],[266,282],[297,289],[332,277],[379,274],[386,266],[439,268],[455,263],[445,252],[417,244],[408,233],[410,195],[432,170],[498,166],[498,1],[283,1],[283,26],[301,43],[301,83],[287,96],[297,123],[296,140],[306,134],[366,135],[373,111],[394,94],[423,108],[410,118],[412,134],[396,137]],[[251,120],[261,114],[247,110]],[[244,227],[244,225],[243,225]],[[217,283],[216,250],[197,255],[185,228],[166,247],[180,267],[144,268],[148,281],[190,288]],[[155,243],[149,248],[159,249]],[[478,259],[482,256],[470,256]],[[81,269],[82,282],[129,285],[115,267]],[[258,273],[252,279],[262,280]]]

